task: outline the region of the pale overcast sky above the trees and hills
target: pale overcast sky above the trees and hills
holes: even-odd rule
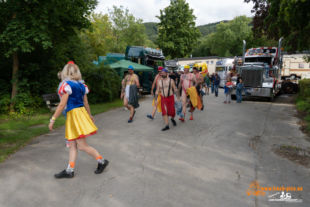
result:
[[[194,9],[197,17],[196,26],[205,25],[222,20],[232,20],[235,16],[246,15],[253,16],[251,9],[252,3],[244,3],[244,0],[186,0],[189,8]],[[159,16],[159,10],[163,10],[170,5],[170,0],[99,0],[95,10],[96,13],[108,13],[108,8],[113,5],[124,8],[128,7],[129,13],[137,18],[143,19],[143,22],[159,22],[155,17]]]

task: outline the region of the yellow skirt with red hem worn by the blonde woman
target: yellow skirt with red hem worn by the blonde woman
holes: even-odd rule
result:
[[[97,129],[85,107],[76,108],[67,112],[65,137],[68,141],[96,134]]]

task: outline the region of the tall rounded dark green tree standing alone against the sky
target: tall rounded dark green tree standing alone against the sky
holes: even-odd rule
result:
[[[201,37],[195,27],[196,16],[185,0],[171,0],[170,5],[160,10],[156,44],[171,58],[184,58],[198,45]]]

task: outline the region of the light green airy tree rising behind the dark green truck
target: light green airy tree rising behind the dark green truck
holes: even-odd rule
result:
[[[142,19],[129,14],[128,8],[123,6],[109,9],[109,18],[112,23],[113,40],[110,41],[109,50],[117,53],[125,53],[126,46],[143,46],[147,40]]]

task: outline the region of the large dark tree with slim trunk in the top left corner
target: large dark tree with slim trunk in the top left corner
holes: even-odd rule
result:
[[[13,58],[11,99],[17,94],[17,54],[53,47],[53,40],[66,39],[76,34],[75,29],[90,27],[87,15],[97,4],[97,0],[0,1],[0,42],[5,55]]]

